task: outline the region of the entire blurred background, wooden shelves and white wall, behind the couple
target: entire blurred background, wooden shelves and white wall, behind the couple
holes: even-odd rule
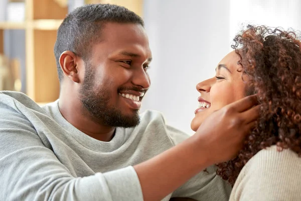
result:
[[[144,19],[154,60],[142,111],[163,112],[189,134],[196,84],[214,76],[244,25],[301,30],[299,0],[0,0],[0,90],[22,91],[41,105],[56,100],[56,30],[70,11],[97,3]]]

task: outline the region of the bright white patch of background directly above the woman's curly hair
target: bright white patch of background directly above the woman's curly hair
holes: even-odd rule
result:
[[[230,0],[230,37],[241,23],[301,30],[300,11],[300,0]]]

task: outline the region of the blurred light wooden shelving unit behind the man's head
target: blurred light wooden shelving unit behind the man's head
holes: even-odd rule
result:
[[[0,54],[4,54],[4,30],[25,30],[26,93],[35,102],[49,103],[59,96],[59,81],[53,48],[57,29],[68,14],[68,3],[71,1],[77,0],[0,0],[2,7],[4,7],[4,2],[24,2],[25,4],[24,21],[4,21],[3,16],[0,16]],[[94,2],[82,0],[82,2],[83,4],[116,4],[142,15],[143,0]]]

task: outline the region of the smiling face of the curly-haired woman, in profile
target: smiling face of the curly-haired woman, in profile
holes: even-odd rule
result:
[[[246,77],[242,79],[239,56],[233,51],[227,54],[216,67],[216,75],[197,84],[200,92],[199,107],[191,122],[191,129],[196,131],[203,121],[214,111],[243,98],[246,94]]]

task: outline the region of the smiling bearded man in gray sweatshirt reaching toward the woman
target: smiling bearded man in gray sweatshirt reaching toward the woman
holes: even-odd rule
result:
[[[257,118],[256,97],[215,112],[190,138],[160,113],[139,116],[152,54],[143,21],[123,7],[76,9],[55,56],[56,102],[40,108],[0,93],[1,200],[228,199],[215,167],[202,170],[235,156]]]

